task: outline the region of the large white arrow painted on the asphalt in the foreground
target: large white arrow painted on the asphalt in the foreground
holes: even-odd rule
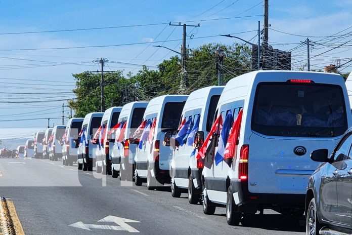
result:
[[[125,218],[109,215],[101,220],[98,220],[98,222],[114,222],[117,225],[88,224],[88,223],[83,223],[82,221],[78,221],[76,223],[69,224],[68,226],[81,228],[85,230],[91,230],[91,228],[98,228],[98,229],[120,230],[120,231],[128,231],[128,232],[140,232],[136,228],[127,224],[127,223],[140,223],[140,221],[136,221],[136,220],[125,219]]]

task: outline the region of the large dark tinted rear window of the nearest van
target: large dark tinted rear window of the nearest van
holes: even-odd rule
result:
[[[259,83],[253,131],[270,136],[335,137],[347,129],[340,86],[315,83]]]

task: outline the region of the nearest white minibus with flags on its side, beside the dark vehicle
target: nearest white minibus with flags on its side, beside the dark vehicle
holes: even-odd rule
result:
[[[263,209],[302,215],[307,182],[319,166],[310,153],[331,151],[352,124],[342,76],[322,72],[237,76],[215,117],[197,155],[204,165],[203,212],[226,207],[227,222],[244,226]]]

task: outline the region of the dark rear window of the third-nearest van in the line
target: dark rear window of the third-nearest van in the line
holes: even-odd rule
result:
[[[177,130],[185,102],[168,102],[162,115],[161,128]]]

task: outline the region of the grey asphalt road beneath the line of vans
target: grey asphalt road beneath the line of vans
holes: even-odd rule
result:
[[[0,195],[14,202],[25,234],[128,234],[128,229],[137,229],[141,234],[274,235],[304,234],[305,229],[303,218],[271,210],[256,215],[252,227],[229,226],[225,208],[204,215],[201,205],[190,205],[185,193],[174,199],[168,188],[121,186],[119,179],[102,179],[61,161],[0,159],[0,172]],[[138,222],[121,223],[108,216]],[[99,221],[103,218],[108,222]]]

